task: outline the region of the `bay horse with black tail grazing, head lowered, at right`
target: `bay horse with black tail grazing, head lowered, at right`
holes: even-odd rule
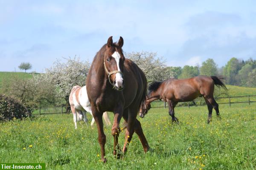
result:
[[[157,99],[163,99],[169,105],[169,115],[172,116],[172,122],[178,119],[174,116],[174,108],[178,102],[189,102],[198,96],[203,96],[208,107],[208,120],[212,120],[212,108],[215,109],[217,117],[220,119],[218,103],[213,98],[214,85],[227,90],[221,78],[216,76],[197,76],[190,79],[167,79],[163,82],[153,82],[149,87],[147,102],[143,108],[140,108],[140,117],[148,112],[150,103]]]

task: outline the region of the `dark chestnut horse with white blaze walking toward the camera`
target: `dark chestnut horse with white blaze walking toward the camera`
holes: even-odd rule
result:
[[[111,129],[114,155],[120,150],[118,137],[122,117],[127,123],[122,152],[127,151],[134,131],[140,138],[144,152],[149,149],[141,124],[136,119],[140,106],[146,101],[147,79],[134,62],[125,59],[122,46],[122,37],[116,43],[113,43],[112,37],[109,37],[107,44],[103,45],[94,57],[86,81],[88,98],[98,127],[98,141],[103,162],[106,161],[104,158],[106,136],[102,126],[102,113],[105,111],[114,113]],[[121,154],[116,155],[117,158],[120,156]]]

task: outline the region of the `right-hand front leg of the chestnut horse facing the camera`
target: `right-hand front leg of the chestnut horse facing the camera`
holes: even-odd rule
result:
[[[113,126],[111,129],[111,134],[114,138],[114,150],[113,150],[113,154],[116,155],[116,150],[120,150],[119,148],[119,144],[118,144],[118,137],[119,137],[119,133],[120,133],[120,120],[122,118],[122,114],[123,114],[123,108],[122,105],[119,105],[115,110],[114,110],[114,121],[113,121]],[[120,155],[117,155],[117,158],[120,158]]]

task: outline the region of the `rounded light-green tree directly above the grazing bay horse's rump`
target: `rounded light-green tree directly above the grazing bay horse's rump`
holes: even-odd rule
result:
[[[202,63],[200,74],[206,76],[214,76],[218,74],[218,68],[213,59],[207,59]]]

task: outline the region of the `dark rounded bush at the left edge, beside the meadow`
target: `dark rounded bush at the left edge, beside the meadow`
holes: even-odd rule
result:
[[[27,108],[15,99],[0,94],[0,121],[9,121],[14,117],[22,119],[31,116]]]

